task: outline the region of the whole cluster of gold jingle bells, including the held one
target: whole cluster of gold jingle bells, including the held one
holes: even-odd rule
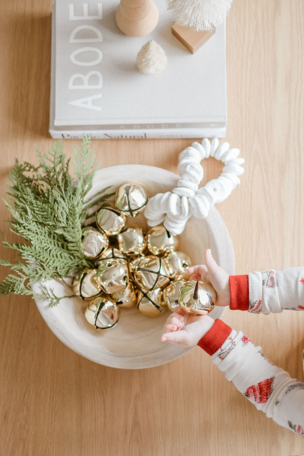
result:
[[[90,301],[85,317],[98,329],[115,326],[121,307],[137,305],[149,317],[167,308],[201,314],[214,307],[210,284],[185,279],[191,260],[175,251],[177,238],[163,225],[146,234],[139,226],[125,227],[127,218],[141,212],[147,201],[139,185],[124,184],[115,204],[102,206],[94,225],[83,229],[84,255],[95,267],[79,273],[72,287],[75,295]]]

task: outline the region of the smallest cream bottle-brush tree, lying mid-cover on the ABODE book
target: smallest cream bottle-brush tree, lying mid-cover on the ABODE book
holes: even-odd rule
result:
[[[136,66],[144,74],[160,73],[166,66],[167,57],[155,41],[148,41],[137,54]]]

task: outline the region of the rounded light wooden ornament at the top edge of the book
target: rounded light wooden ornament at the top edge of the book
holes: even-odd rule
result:
[[[150,33],[159,20],[159,12],[152,0],[121,0],[116,11],[119,29],[129,36]]]

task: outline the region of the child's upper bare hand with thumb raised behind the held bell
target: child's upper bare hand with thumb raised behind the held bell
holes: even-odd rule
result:
[[[229,274],[218,266],[212,257],[211,250],[208,248],[204,254],[205,264],[192,266],[187,270],[188,274],[192,274],[190,280],[206,280],[210,282],[216,291],[216,305],[230,305],[230,285]]]

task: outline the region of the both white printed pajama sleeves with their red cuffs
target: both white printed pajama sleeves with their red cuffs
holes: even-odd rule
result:
[[[233,310],[269,314],[304,310],[304,268],[230,276]],[[291,379],[242,331],[215,320],[198,345],[257,409],[304,437],[304,383]]]

